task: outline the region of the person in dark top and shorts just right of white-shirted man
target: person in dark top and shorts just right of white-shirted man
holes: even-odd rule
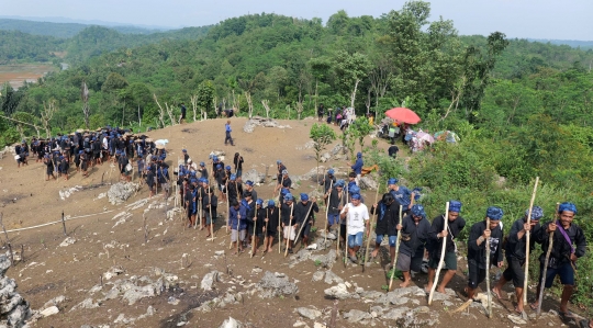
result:
[[[383,237],[388,235],[389,253],[392,262],[393,259],[395,259],[395,241],[398,240],[398,230],[395,227],[400,222],[400,202],[388,192],[383,194],[383,197],[378,204],[374,204],[371,207],[371,214],[378,214],[377,227],[374,228],[377,237],[374,239],[374,249],[371,252],[371,258],[377,258],[379,250],[381,249],[381,242],[383,242]]]

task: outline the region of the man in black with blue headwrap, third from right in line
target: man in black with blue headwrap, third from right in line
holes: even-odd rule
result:
[[[503,214],[500,207],[490,206],[486,210],[484,220],[471,226],[468,238],[468,286],[465,289],[469,299],[473,298],[478,285],[486,279],[485,257],[490,257],[491,265],[502,268],[504,264],[501,244],[503,230],[500,226]],[[490,219],[490,226],[486,225],[486,219]],[[485,248],[486,238],[490,241],[490,249]]]

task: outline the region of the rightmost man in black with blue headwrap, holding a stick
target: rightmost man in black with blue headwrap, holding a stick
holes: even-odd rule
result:
[[[541,226],[534,237],[537,242],[541,242],[544,252],[539,257],[539,284],[537,286],[537,299],[530,306],[533,309],[538,308],[540,293],[542,293],[541,282],[544,281],[542,272],[545,271],[546,252],[550,244],[548,236],[552,236],[552,248],[549,253],[548,268],[545,275],[545,287],[551,287],[556,275],[560,276],[560,282],[563,285],[562,296],[560,298],[559,314],[562,319],[573,319],[575,316],[568,309],[568,302],[574,290],[574,275],[577,274],[577,260],[585,255],[586,239],[581,227],[574,224],[574,215],[577,206],[573,203],[562,203],[558,207],[559,219],[548,222]],[[575,247],[573,246],[575,245]]]

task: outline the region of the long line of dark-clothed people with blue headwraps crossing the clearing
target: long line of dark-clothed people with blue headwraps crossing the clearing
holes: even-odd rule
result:
[[[230,138],[230,122],[226,125],[226,136]],[[181,200],[186,217],[183,225],[200,225],[200,229],[205,229],[206,237],[214,234],[220,212],[217,207],[225,204],[224,226],[231,231],[232,247],[237,255],[248,249],[254,256],[260,245],[264,253],[271,252],[275,245],[279,244],[283,245],[287,253],[293,252],[298,241],[301,241],[302,247],[307,247],[312,228],[315,226],[315,214],[320,212],[316,197],[307,193],[299,193],[296,197],[282,160],[277,160],[278,174],[273,196],[265,201],[258,197],[254,181],[243,181],[244,158],[239,152],[233,157],[233,167],[225,165],[217,156],[210,156],[209,171],[204,161],[194,162],[188,151],[182,149],[182,158],[178,159],[178,167],[174,169],[177,178],[174,177],[171,181],[165,145],[118,127],[108,126],[96,132],[77,131],[47,139],[33,138],[31,144],[23,140],[15,146],[15,152],[19,167],[27,165],[29,157],[43,162],[47,167],[47,179],[68,179],[69,162],[74,158],[76,170],[85,177],[89,168],[112,161],[118,163],[122,179],[130,180],[132,161],[135,160],[138,177],[144,178],[150,196],[160,190],[164,196],[168,197],[171,185],[177,184],[175,196]],[[422,265],[425,264],[428,273],[426,290],[429,291],[433,284],[437,284],[436,290],[445,293],[445,287],[457,272],[457,239],[466,229],[466,220],[460,215],[461,202],[451,200],[448,212],[429,222],[424,206],[414,204],[418,199],[418,190],[410,191],[400,185],[398,179],[390,178],[388,192],[378,203],[367,206],[358,185],[361,157],[361,154],[357,154],[357,162],[351,166],[353,171],[347,180],[337,179],[335,171],[329,169],[321,181],[323,200],[327,205],[326,220],[323,224],[325,234],[333,234],[338,245],[346,248],[348,259],[345,260],[362,264],[359,250],[365,237],[370,238],[371,229],[374,229],[374,249],[370,258],[379,256],[387,236],[390,265],[394,265],[396,260],[395,270],[403,274],[401,287],[409,286],[413,279],[412,272],[423,271]],[[545,287],[549,289],[556,276],[560,278],[563,291],[559,314],[564,318],[572,318],[568,302],[574,286],[575,262],[584,256],[586,249],[583,230],[573,223],[577,206],[568,202],[560,204],[556,218],[547,223],[540,223],[544,218],[541,207],[533,207],[529,220],[528,213],[529,211],[526,211],[524,217],[514,222],[506,236],[501,226],[504,213],[497,206],[488,207],[483,220],[469,228],[468,283],[463,291],[472,298],[478,285],[488,279],[486,263],[502,268],[506,258],[506,269],[492,293],[502,297],[503,286],[512,281],[517,299],[515,310],[523,313],[525,275],[522,267],[527,260],[526,234],[530,231],[529,248],[535,249],[536,245],[541,245],[542,249],[539,256],[540,275],[544,274],[545,263],[548,263]],[[374,227],[370,222],[371,215],[377,218]],[[546,259],[550,235],[553,242],[549,259]],[[396,244],[400,244],[399,253],[395,253]],[[444,253],[440,252],[443,244]],[[486,245],[490,249],[486,249]],[[435,281],[435,271],[440,262],[444,262],[446,272],[438,282]],[[540,281],[541,276],[538,282]],[[540,289],[537,291],[539,294]],[[537,308],[537,299],[536,297],[536,301],[529,304],[530,308]]]

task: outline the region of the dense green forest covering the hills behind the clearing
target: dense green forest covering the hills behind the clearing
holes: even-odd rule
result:
[[[2,115],[41,125],[41,113],[54,108],[53,134],[85,127],[82,83],[90,128],[171,124],[159,118],[156,100],[176,113],[186,103],[190,121],[201,111],[211,117],[215,104],[264,115],[266,103],[281,118],[313,115],[321,103],[351,105],[379,120],[404,104],[423,117],[418,127],[455,131],[461,143],[437,143],[405,163],[372,146],[366,160],[423,186],[430,215],[459,199],[470,223],[496,204],[510,226],[527,206],[535,177],[544,181],[538,203],[547,217],[562,201],[577,203],[579,217],[592,215],[593,50],[500,32],[460,36],[452,21],[430,21],[429,12],[429,3],[412,1],[380,18],[339,11],[325,24],[262,13],[144,36],[89,27],[58,44],[75,60],[70,69],[19,90],[3,87]],[[35,131],[0,118],[0,145],[21,133]],[[593,224],[579,224],[593,238]],[[593,260],[580,265],[593,270]],[[591,291],[583,282],[574,302],[592,305]]]

